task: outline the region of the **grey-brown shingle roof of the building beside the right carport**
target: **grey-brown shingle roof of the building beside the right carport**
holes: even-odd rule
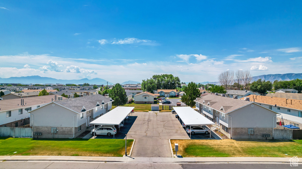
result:
[[[196,100],[196,102],[209,106],[209,107],[211,107],[215,110],[218,110],[220,112],[223,112],[223,113],[232,112],[233,110],[236,110],[240,107],[243,107],[243,106],[246,106],[246,105],[252,103],[252,102],[239,100],[239,99],[216,96],[213,94],[208,94],[204,97],[201,97],[201,99]],[[210,105],[207,105],[208,102],[210,102]],[[224,111],[220,110],[221,107],[223,107]]]

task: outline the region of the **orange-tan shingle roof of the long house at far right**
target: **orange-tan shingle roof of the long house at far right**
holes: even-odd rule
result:
[[[278,107],[286,107],[290,109],[297,109],[302,110],[302,100],[296,100],[296,99],[286,99],[286,98],[279,98],[279,97],[269,97],[269,96],[259,96],[259,95],[249,95],[250,101],[254,101],[256,103],[263,103],[263,104],[269,104],[273,106]],[[242,100],[244,98],[241,98]]]

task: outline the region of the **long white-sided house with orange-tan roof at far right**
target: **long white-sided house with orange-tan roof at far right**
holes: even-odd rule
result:
[[[302,127],[302,100],[256,95],[248,97],[250,101],[255,99],[255,103],[280,113],[277,121],[283,121],[285,125]]]

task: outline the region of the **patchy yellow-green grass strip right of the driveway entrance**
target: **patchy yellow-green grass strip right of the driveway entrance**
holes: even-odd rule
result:
[[[174,143],[183,157],[302,156],[302,140],[171,140],[175,154]]]

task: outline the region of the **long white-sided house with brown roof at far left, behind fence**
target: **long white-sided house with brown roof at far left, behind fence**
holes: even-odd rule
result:
[[[28,111],[52,102],[59,95],[27,97],[0,101],[0,126],[19,127],[29,124]]]

